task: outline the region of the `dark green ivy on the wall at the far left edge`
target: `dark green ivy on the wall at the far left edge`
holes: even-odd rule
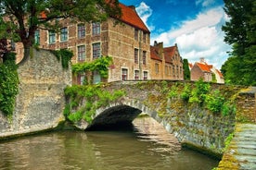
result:
[[[5,61],[0,64],[0,110],[11,116],[14,110],[15,97],[18,94],[18,72],[15,54],[5,54]]]

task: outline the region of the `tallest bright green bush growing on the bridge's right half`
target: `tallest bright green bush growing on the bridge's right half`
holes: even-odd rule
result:
[[[204,82],[203,79],[199,79],[196,82],[196,87],[191,91],[191,97],[189,98],[189,103],[199,103],[205,102],[206,94],[210,91],[210,84]]]

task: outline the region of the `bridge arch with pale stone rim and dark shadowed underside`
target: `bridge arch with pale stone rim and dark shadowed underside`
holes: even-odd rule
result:
[[[131,124],[134,118],[141,113],[149,115],[159,122],[168,132],[173,133],[171,126],[158,115],[157,111],[151,110],[144,103],[133,99],[126,99],[119,103],[109,103],[106,107],[98,108],[92,123],[88,124],[85,129],[97,129],[97,127],[101,127],[102,129],[111,127],[112,125],[125,126]],[[179,141],[182,141],[179,134],[174,132],[174,135]]]

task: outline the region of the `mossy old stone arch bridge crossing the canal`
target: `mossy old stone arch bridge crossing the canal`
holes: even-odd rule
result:
[[[107,106],[96,109],[90,123],[82,120],[76,123],[76,126],[82,129],[125,126],[137,115],[145,113],[173,133],[182,144],[220,156],[223,153],[224,140],[234,131],[238,119],[255,123],[255,93],[239,93],[242,87],[211,84],[211,91],[221,91],[225,100],[233,100],[237,105],[237,117],[235,114],[224,116],[211,113],[205,105],[181,100],[179,96],[186,84],[194,86],[194,82],[186,81],[110,83],[104,86],[102,91],[122,90],[125,91],[125,95]],[[83,99],[83,103],[86,103],[86,100]]]

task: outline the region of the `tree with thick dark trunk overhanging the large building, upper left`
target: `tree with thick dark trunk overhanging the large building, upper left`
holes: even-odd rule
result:
[[[61,18],[100,22],[121,16],[118,0],[1,0],[0,11],[0,39],[22,42],[23,61],[29,56],[39,28],[58,31]]]

